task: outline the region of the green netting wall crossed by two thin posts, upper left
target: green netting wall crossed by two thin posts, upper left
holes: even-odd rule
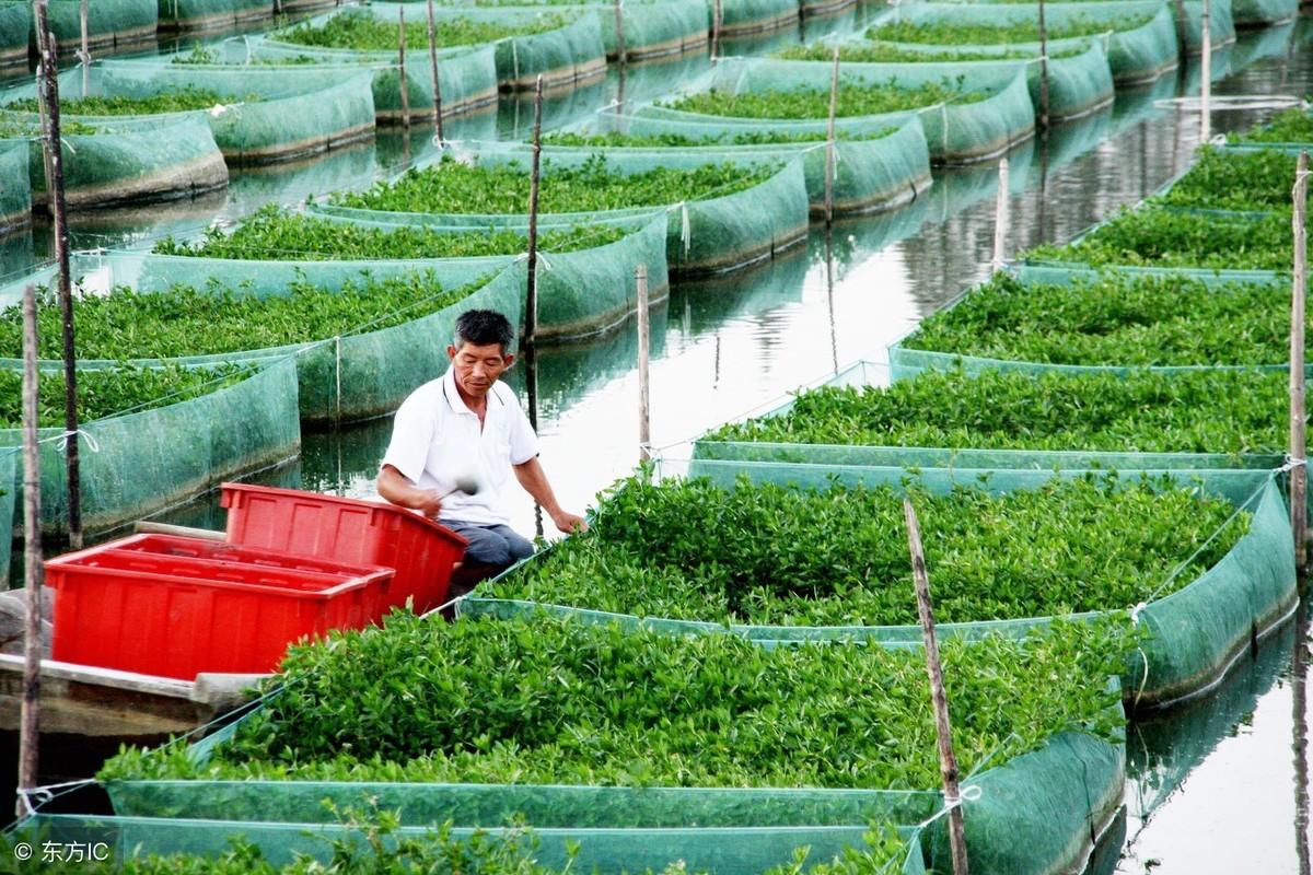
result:
[[[298,56],[314,58],[320,68],[369,67],[373,75],[374,114],[379,122],[402,121],[402,84],[395,55],[358,52],[341,49],[293,46],[269,38],[248,42],[251,58],[276,62]],[[299,64],[289,64],[295,70]],[[494,45],[441,49],[437,52],[439,88],[442,92],[442,115],[460,115],[496,104],[498,72]],[[416,50],[406,58],[406,96],[411,117],[433,112],[433,73],[428,52]]]

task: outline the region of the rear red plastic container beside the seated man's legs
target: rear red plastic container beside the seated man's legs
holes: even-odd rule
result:
[[[395,568],[391,605],[425,611],[446,601],[465,538],[397,505],[316,492],[225,483],[228,542],[319,559]]]

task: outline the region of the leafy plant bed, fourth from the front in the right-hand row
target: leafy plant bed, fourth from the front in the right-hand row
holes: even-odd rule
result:
[[[922,321],[890,349],[890,363],[1284,369],[1289,312],[1285,283],[1116,273],[1032,283],[999,274]]]

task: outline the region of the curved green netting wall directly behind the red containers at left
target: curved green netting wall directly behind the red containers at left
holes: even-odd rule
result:
[[[290,358],[209,395],[79,426],[83,525],[106,529],[179,504],[225,479],[297,455],[297,369]],[[67,525],[64,454],[42,429],[41,519]],[[0,430],[0,446],[18,446],[18,429]],[[95,442],[95,447],[92,446]],[[16,475],[13,492],[22,495]],[[20,521],[14,521],[16,526]]]

